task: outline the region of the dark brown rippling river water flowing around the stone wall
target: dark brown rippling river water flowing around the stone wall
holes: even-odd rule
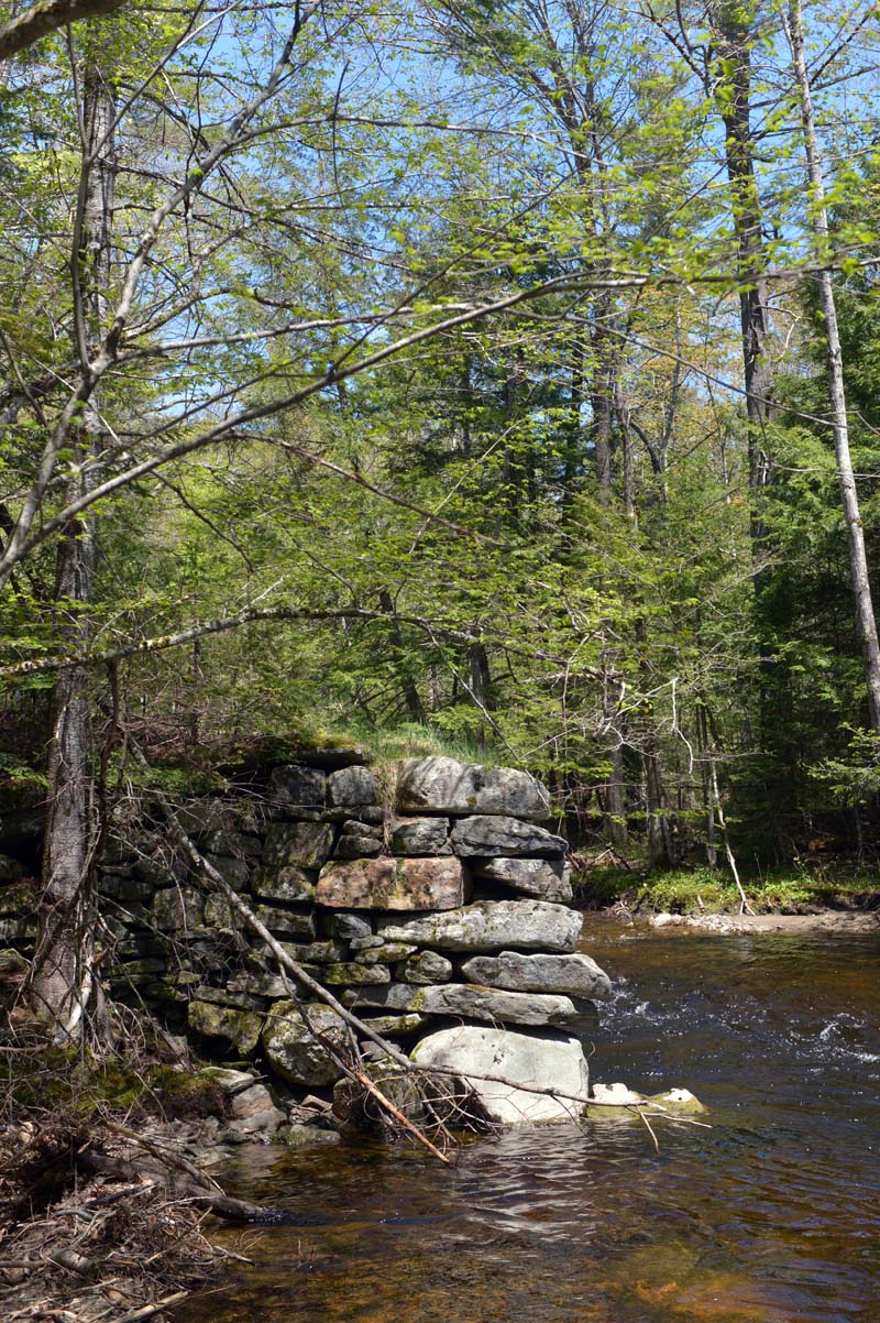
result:
[[[691,1089],[711,1130],[254,1150],[231,1192],[314,1218],[223,1232],[254,1267],[177,1323],[877,1323],[880,934],[710,937],[587,916],[616,980],[593,1078]]]

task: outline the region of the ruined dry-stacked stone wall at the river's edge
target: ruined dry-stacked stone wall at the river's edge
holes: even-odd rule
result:
[[[580,1036],[609,983],[575,954],[581,917],[543,787],[443,757],[404,761],[383,785],[355,754],[333,761],[192,799],[180,824],[296,960],[422,1064],[585,1094]],[[340,1072],[313,1031],[344,1045],[341,1019],[289,998],[166,823],[119,836],[99,877],[114,994],[214,1057],[267,1064],[293,1095],[332,1086]],[[4,918],[7,941],[26,943],[33,919],[21,906]],[[560,1114],[542,1095],[486,1089],[498,1119]]]

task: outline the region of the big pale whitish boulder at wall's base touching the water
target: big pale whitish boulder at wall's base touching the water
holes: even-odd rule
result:
[[[518,1033],[458,1025],[429,1033],[411,1056],[420,1066],[440,1066],[464,1077],[489,1115],[502,1125],[572,1121],[583,1106],[573,1099],[585,1098],[589,1090],[589,1070],[580,1043],[552,1031]],[[499,1077],[510,1084],[490,1082],[480,1076]],[[555,1090],[558,1097],[517,1088],[522,1085]]]

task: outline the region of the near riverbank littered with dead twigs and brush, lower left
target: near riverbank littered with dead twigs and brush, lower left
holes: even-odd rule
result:
[[[217,1240],[223,1221],[289,1221],[227,1196],[211,1171],[270,1142],[340,1138],[320,1106],[281,1113],[247,1070],[133,1054],[89,1062],[33,1032],[0,1043],[0,1062],[8,1323],[161,1323],[242,1261]]]

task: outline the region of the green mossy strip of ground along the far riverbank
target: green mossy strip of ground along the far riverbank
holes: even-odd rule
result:
[[[740,893],[729,872],[712,868],[638,873],[595,868],[575,878],[576,894],[591,908],[622,901],[634,912],[727,914],[740,909]],[[761,914],[803,914],[821,909],[875,909],[880,881],[855,864],[778,868],[743,878],[752,908]]]

